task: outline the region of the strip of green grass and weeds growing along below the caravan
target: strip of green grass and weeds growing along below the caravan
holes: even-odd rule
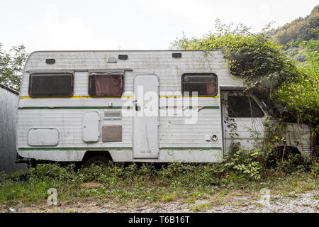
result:
[[[194,211],[209,209],[228,203],[230,194],[259,196],[260,189],[267,187],[271,194],[296,197],[296,194],[318,190],[318,174],[313,172],[278,172],[267,170],[261,179],[237,175],[220,163],[188,164],[172,163],[162,167],[150,164],[111,164],[74,170],[72,165],[38,165],[28,172],[0,175],[0,204],[37,204],[46,201],[47,189],[57,189],[58,201],[72,203],[77,198],[98,198],[101,201],[184,201],[195,204],[198,200],[211,201],[191,206]],[[27,180],[21,180],[28,174]],[[84,182],[99,182],[94,187],[82,187]],[[269,182],[267,185],[261,182]],[[272,200],[278,199],[272,196]],[[313,196],[318,199],[318,195]]]

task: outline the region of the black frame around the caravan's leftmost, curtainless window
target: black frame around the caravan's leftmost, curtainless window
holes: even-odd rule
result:
[[[45,77],[50,77],[50,76],[58,76],[58,75],[69,75],[71,77],[71,91],[67,95],[34,95],[32,94],[32,83],[31,80],[33,76],[37,75],[44,75]],[[43,98],[43,97],[71,97],[74,94],[74,73],[73,72],[34,72],[31,73],[29,76],[29,86],[28,86],[28,94],[32,98]]]

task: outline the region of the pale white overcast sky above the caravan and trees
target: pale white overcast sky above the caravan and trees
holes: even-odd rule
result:
[[[0,0],[5,50],[166,50],[182,32],[200,38],[222,23],[252,31],[307,16],[318,0]]]

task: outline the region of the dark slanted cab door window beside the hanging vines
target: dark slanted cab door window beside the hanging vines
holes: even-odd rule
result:
[[[264,113],[249,96],[228,96],[228,116],[261,118]]]

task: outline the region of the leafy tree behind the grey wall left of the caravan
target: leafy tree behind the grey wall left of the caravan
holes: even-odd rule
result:
[[[27,57],[24,45],[13,46],[6,52],[0,43],[0,83],[18,91]]]

